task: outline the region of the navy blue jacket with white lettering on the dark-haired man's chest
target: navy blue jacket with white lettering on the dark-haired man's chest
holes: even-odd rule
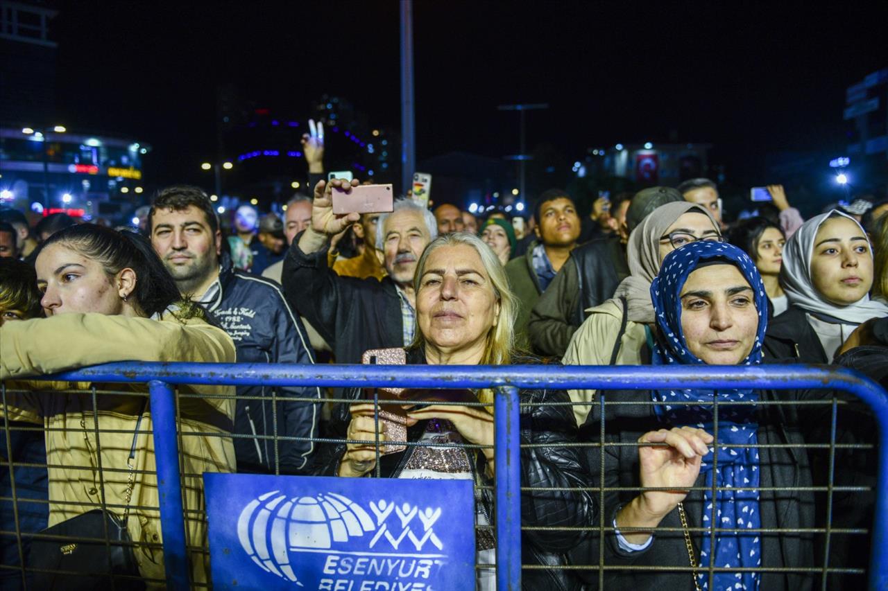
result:
[[[284,299],[281,286],[232,269],[228,256],[223,255],[219,278],[203,296],[202,304],[234,340],[238,363],[314,363],[305,327]],[[273,394],[277,397],[276,409]],[[272,437],[275,430],[281,437],[318,437],[321,390],[241,386],[237,396],[263,398],[237,400],[234,433],[253,436],[234,438],[238,471],[274,473],[278,466],[281,473],[292,474],[305,469],[314,451],[312,441],[280,441],[275,451]],[[286,398],[313,398],[318,402]]]

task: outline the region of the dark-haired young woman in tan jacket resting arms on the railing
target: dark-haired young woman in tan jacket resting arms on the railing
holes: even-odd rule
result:
[[[89,392],[69,391],[90,384],[24,378],[123,360],[232,363],[234,343],[207,323],[200,308],[178,301],[178,289],[162,262],[132,232],[98,225],[57,232],[36,256],[36,280],[48,318],[0,327],[0,380],[10,387],[7,418],[48,429],[49,524],[103,505],[128,515],[125,525],[137,544],[141,576],[163,583],[155,455],[147,435],[152,417],[144,385],[115,384],[114,390],[132,390],[132,395],[99,394],[94,405]],[[206,524],[200,475],[234,470],[234,446],[226,437],[234,400],[225,398],[234,388],[179,390],[202,395],[179,400],[186,530],[189,543],[201,547]],[[208,432],[211,436],[187,437]],[[131,449],[135,455],[129,464]],[[195,583],[208,579],[205,560],[200,553],[192,556]]]

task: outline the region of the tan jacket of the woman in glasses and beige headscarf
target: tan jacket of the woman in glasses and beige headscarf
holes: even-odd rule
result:
[[[611,299],[586,311],[590,316],[576,329],[561,362],[566,366],[607,366],[614,352],[616,335],[620,333],[622,305],[619,300]],[[614,365],[640,366],[645,341],[645,325],[627,320]],[[567,393],[574,402],[591,403],[595,398],[595,390],[567,390]],[[590,410],[591,406],[574,406],[577,425],[586,422]]]

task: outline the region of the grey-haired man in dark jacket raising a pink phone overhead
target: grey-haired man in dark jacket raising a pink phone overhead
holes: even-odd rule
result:
[[[315,185],[312,225],[293,240],[282,282],[290,305],[318,329],[337,363],[361,363],[364,351],[413,342],[413,273],[424,248],[438,235],[438,224],[432,212],[414,201],[395,201],[394,211],[377,223],[377,250],[383,253],[387,275],[382,280],[340,277],[327,264],[329,240],[361,217],[333,214],[331,185],[357,186],[358,181]]]

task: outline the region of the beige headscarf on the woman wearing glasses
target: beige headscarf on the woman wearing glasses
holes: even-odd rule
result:
[[[614,298],[625,297],[632,322],[654,324],[654,303],[651,301],[651,282],[660,272],[660,238],[679,217],[694,211],[710,218],[712,227],[718,223],[706,209],[696,203],[677,201],[666,203],[649,213],[629,235],[626,257],[630,276],[616,288]]]

